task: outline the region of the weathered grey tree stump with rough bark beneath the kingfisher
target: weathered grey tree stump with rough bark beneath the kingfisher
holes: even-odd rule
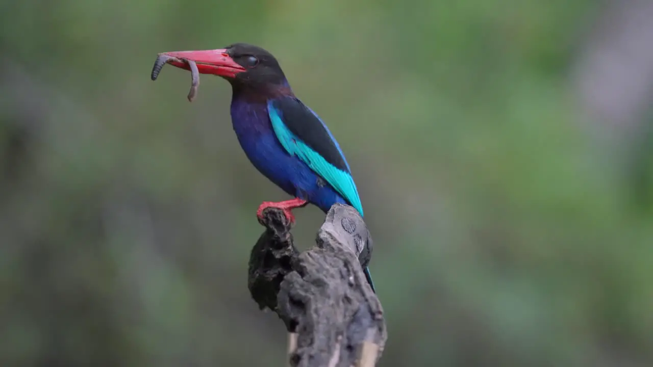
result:
[[[249,291],[291,333],[289,364],[374,366],[387,332],[381,303],[360,265],[369,261],[366,244],[372,241],[358,212],[334,204],[317,246],[303,253],[293,245],[291,224],[280,210],[265,210],[261,224],[266,230],[251,251]]]

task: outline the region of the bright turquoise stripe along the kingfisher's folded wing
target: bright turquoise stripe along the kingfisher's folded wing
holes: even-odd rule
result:
[[[360,203],[358,190],[351,174],[328,163],[319,153],[302,142],[302,139],[295,136],[286,127],[285,123],[283,123],[282,116],[279,110],[274,107],[272,101],[268,102],[268,115],[270,116],[270,121],[272,121],[274,134],[279,139],[279,142],[281,142],[283,148],[289,154],[299,157],[313,172],[327,180],[362,216],[362,204]]]

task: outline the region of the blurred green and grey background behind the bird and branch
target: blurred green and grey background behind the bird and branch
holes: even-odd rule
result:
[[[0,365],[282,366],[247,291],[287,196],[231,88],[158,52],[259,44],[375,239],[379,366],[653,365],[653,1],[0,2]],[[297,212],[313,244],[317,208]]]

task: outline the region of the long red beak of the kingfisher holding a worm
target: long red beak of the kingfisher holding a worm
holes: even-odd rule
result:
[[[236,63],[234,59],[227,54],[227,50],[219,48],[217,50],[202,51],[174,51],[162,52],[159,55],[176,57],[178,59],[187,59],[195,61],[200,74],[214,74],[234,78],[239,72],[245,72],[246,69]],[[181,69],[190,70],[187,63],[170,59],[167,61],[170,65]]]

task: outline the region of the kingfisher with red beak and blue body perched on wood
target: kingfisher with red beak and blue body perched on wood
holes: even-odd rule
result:
[[[295,96],[279,62],[261,47],[236,43],[216,50],[164,52],[168,63],[200,74],[214,74],[232,87],[231,121],[240,146],[254,167],[295,199],[263,202],[257,210],[291,212],[313,204],[327,213],[336,202],[363,208],[349,163],[327,125]],[[368,244],[366,244],[368,246]],[[368,248],[368,250],[371,250]],[[370,287],[369,256],[361,266]]]

